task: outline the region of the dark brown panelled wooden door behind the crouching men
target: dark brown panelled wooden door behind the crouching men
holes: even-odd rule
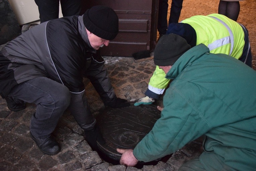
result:
[[[154,50],[157,37],[158,0],[83,1],[82,12],[94,5],[111,7],[119,18],[119,33],[100,50],[102,56],[131,57]]]

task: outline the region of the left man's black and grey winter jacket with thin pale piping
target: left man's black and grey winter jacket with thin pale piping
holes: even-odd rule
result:
[[[67,86],[72,94],[83,94],[84,76],[105,104],[116,98],[104,60],[90,46],[82,16],[41,23],[0,52],[0,92],[4,95],[36,77],[48,77]]]

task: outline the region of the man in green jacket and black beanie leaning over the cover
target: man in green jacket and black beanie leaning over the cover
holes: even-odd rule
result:
[[[256,71],[176,34],[161,37],[154,63],[173,79],[161,118],[134,150],[117,149],[120,164],[159,159],[205,135],[204,152],[180,170],[255,170]]]

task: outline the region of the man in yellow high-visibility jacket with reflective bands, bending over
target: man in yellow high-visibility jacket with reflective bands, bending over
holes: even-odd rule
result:
[[[248,30],[242,24],[224,15],[192,16],[180,23],[169,24],[167,34],[170,33],[185,38],[191,47],[202,43],[209,48],[210,53],[227,54],[252,66]],[[169,81],[165,78],[164,71],[156,66],[145,92],[146,97],[139,99],[134,105],[153,103],[163,94]]]

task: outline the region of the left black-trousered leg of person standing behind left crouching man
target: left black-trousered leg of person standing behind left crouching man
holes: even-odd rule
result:
[[[59,18],[59,0],[35,0],[39,10],[40,23]]]

